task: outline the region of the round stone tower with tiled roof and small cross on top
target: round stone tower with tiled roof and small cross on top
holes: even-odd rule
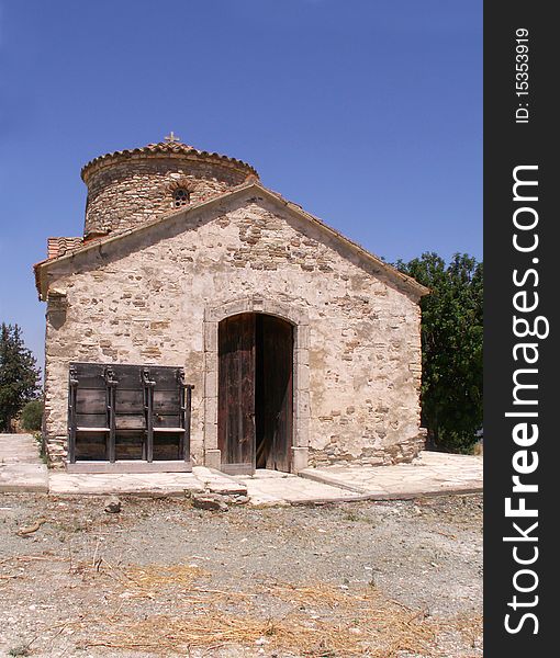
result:
[[[246,162],[198,150],[171,133],[159,144],[94,158],[81,178],[88,186],[88,240],[206,201],[258,174]]]

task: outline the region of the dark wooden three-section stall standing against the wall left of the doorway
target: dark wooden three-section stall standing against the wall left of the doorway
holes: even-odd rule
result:
[[[181,367],[70,363],[68,462],[184,462],[193,386]]]

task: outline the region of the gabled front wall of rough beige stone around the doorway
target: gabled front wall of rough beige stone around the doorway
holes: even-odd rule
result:
[[[70,361],[154,363],[184,366],[195,386],[191,449],[201,464],[204,310],[251,295],[309,317],[311,464],[415,456],[423,444],[416,300],[279,207],[247,193],[227,211],[178,214],[57,264],[45,367],[52,458],[66,453]]]

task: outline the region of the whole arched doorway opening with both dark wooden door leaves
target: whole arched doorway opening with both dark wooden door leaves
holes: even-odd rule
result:
[[[222,470],[290,472],[293,326],[242,313],[219,325],[217,444]]]

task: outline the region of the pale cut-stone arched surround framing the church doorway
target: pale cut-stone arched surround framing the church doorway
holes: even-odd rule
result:
[[[293,436],[292,470],[306,468],[310,432],[309,317],[292,304],[264,297],[245,297],[204,309],[204,465],[221,467],[217,447],[217,326],[240,313],[277,316],[293,326]]]

